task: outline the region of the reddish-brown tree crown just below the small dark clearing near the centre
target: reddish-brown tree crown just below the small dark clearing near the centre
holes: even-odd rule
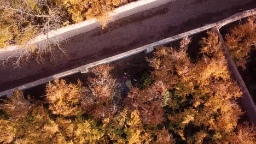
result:
[[[138,110],[141,121],[144,124],[157,125],[165,121],[163,99],[166,86],[163,82],[155,82],[152,87],[146,89],[132,88],[125,105],[129,110]]]

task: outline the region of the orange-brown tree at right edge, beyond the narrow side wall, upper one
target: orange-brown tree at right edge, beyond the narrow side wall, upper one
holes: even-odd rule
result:
[[[249,17],[247,22],[230,29],[226,35],[226,46],[237,66],[246,68],[249,52],[256,46],[256,16]]]

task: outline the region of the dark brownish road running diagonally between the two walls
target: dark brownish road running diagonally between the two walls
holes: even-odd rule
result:
[[[44,64],[31,61],[20,69],[0,66],[0,91],[117,55],[139,46],[217,22],[256,7],[254,0],[174,0],[71,38],[69,56]]]

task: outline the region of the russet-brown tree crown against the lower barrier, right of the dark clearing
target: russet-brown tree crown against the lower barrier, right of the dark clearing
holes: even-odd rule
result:
[[[178,75],[182,76],[184,81],[190,78],[189,74],[193,71],[190,59],[187,57],[190,41],[191,39],[188,37],[183,39],[178,50],[173,47],[158,47],[154,57],[149,59],[150,66],[154,68],[153,79],[160,80],[167,85],[167,88],[171,88],[177,85]],[[178,75],[175,75],[176,73]]]

